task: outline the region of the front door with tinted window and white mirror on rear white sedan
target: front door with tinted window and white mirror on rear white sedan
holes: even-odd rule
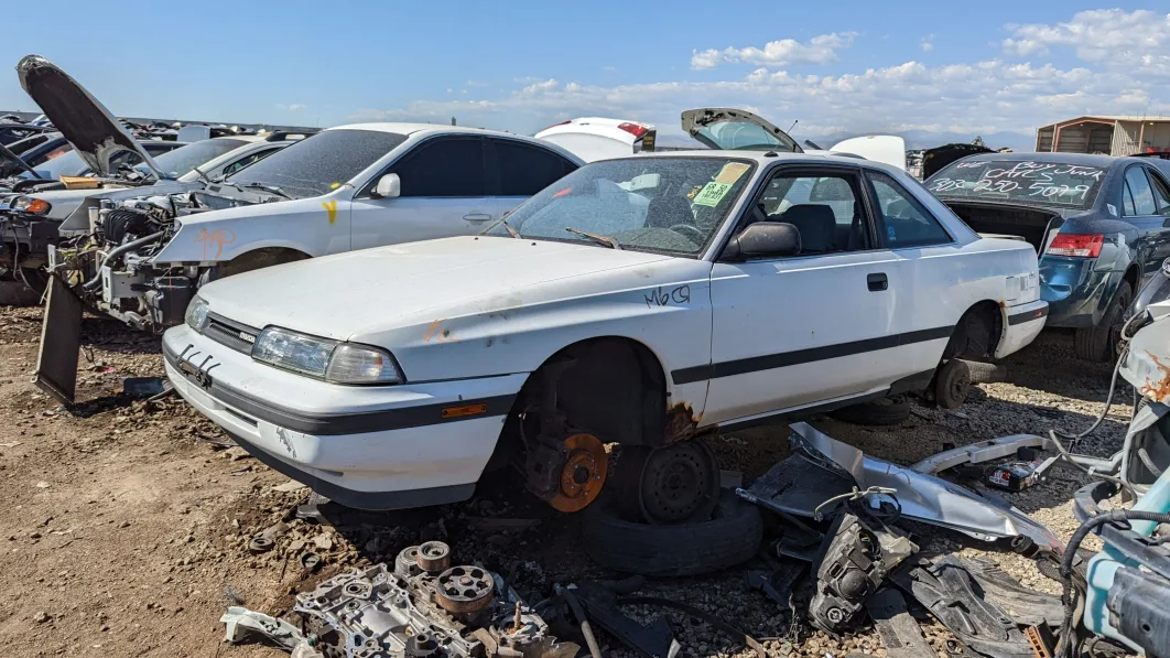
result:
[[[472,235],[500,217],[486,192],[483,140],[445,136],[427,139],[379,173],[353,198],[351,235],[355,249]],[[384,173],[397,173],[401,194],[374,198]]]

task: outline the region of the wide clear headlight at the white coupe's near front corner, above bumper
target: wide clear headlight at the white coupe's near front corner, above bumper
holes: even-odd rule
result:
[[[400,384],[402,372],[390,352],[268,327],[252,347],[252,358],[333,384]]]

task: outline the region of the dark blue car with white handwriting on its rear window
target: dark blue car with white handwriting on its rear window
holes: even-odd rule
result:
[[[1048,327],[1076,355],[1115,357],[1122,315],[1170,256],[1170,163],[1079,153],[984,153],[927,187],[975,231],[1027,240],[1040,256]]]

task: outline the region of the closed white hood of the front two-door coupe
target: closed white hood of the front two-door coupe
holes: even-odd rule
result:
[[[676,259],[594,245],[461,237],[248,272],[211,283],[199,295],[212,313],[250,327],[276,324],[344,341],[535,303],[541,285],[665,260]],[[574,293],[603,292],[611,283],[620,285],[581,280]]]

